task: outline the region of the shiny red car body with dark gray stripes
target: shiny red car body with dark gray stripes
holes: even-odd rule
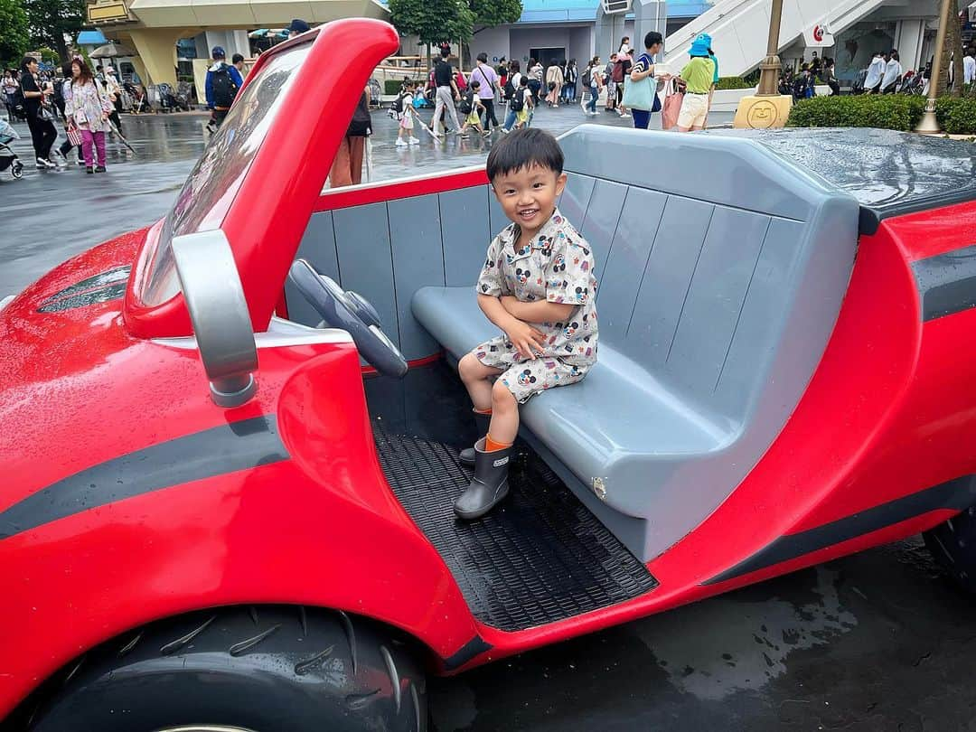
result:
[[[226,206],[256,332],[276,308],[284,314],[312,211],[486,183],[468,170],[321,194],[320,161],[332,158],[366,69],[397,46],[383,23],[324,27],[308,61],[355,49],[362,78],[346,62],[307,62],[303,92],[289,92],[290,125],[270,128]],[[161,228],[61,264],[0,311],[0,587],[16,629],[0,646],[0,718],[108,639],[225,605],[345,610],[416,637],[435,671],[463,671],[929,529],[960,508],[913,500],[976,473],[976,308],[922,320],[913,269],[970,244],[959,232],[976,230],[976,203],[962,203],[886,219],[861,238],[792,417],[721,507],[648,562],[657,589],[544,627],[493,629],[387,485],[355,347],[264,348],[257,396],[216,406],[198,353],[160,342],[191,334],[182,297],[140,300]],[[106,288],[114,297],[85,300]],[[263,425],[257,466],[223,439]],[[838,522],[846,533],[818,534]],[[791,542],[799,549],[722,579]]]

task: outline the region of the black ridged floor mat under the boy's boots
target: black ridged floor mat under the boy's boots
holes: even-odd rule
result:
[[[467,523],[452,508],[470,480],[454,448],[393,434],[377,421],[374,434],[386,479],[482,623],[500,630],[543,626],[657,586],[528,448],[514,461],[508,499]]]

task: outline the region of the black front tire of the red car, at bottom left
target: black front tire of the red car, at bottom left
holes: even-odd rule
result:
[[[30,732],[424,732],[407,638],[345,613],[223,608],[105,644]]]

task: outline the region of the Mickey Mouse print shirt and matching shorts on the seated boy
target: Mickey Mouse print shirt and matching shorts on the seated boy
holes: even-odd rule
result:
[[[503,369],[503,383],[523,402],[546,388],[582,379],[596,362],[596,278],[586,239],[556,209],[528,246],[515,250],[521,230],[509,224],[488,247],[479,295],[512,295],[523,303],[576,307],[564,322],[533,323],[546,336],[536,360],[523,357],[502,335],[474,348],[486,366]]]

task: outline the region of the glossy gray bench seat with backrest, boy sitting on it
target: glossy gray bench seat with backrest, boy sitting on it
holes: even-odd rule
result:
[[[858,205],[752,140],[584,125],[560,142],[559,208],[590,242],[600,283],[598,363],[530,400],[522,424],[650,559],[707,518],[786,425],[846,293]],[[445,258],[459,246],[442,242]],[[411,310],[461,357],[497,331],[472,285],[445,284],[419,288]]]

